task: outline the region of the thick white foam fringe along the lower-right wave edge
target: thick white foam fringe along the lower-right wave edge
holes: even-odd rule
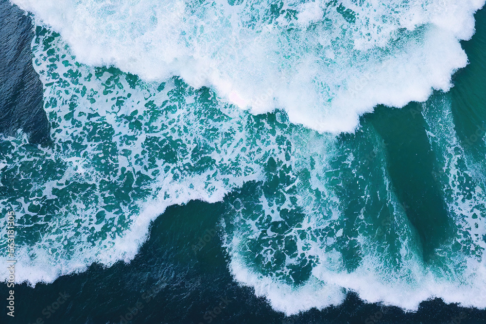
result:
[[[233,251],[238,244],[241,245],[234,239],[228,245],[229,250]],[[257,296],[265,297],[274,309],[287,316],[339,305],[347,291],[356,292],[367,303],[398,306],[406,311],[417,311],[421,302],[434,298],[462,307],[486,308],[484,260],[459,257],[451,260],[446,272],[436,272],[424,266],[413,250],[403,250],[406,252],[398,270],[389,266],[389,260],[383,262],[380,252],[375,251],[365,255],[360,266],[351,272],[322,262],[312,270],[311,278],[298,287],[285,284],[275,275],[256,272],[245,265],[238,253],[231,252],[229,269],[238,282],[254,288]],[[326,259],[323,254],[320,257]]]

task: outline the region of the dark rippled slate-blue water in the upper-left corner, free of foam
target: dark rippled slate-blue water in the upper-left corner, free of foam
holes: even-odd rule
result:
[[[32,22],[8,0],[0,1],[0,133],[18,129],[31,143],[49,141],[49,123],[42,102],[42,83],[32,67]]]

